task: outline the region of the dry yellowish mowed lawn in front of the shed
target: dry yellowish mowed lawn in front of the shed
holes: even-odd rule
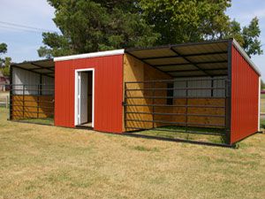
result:
[[[264,198],[265,134],[239,149],[6,120],[0,198]]]

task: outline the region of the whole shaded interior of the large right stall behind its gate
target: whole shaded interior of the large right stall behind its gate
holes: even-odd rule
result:
[[[125,132],[230,137],[229,48],[224,40],[125,50]]]

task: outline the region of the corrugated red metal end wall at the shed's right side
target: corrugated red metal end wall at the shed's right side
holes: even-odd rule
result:
[[[231,143],[258,131],[259,75],[233,46],[231,54]]]

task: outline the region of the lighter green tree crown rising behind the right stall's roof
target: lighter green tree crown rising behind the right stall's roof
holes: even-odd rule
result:
[[[141,0],[140,6],[155,31],[158,43],[198,42],[216,39],[225,31],[230,1]]]

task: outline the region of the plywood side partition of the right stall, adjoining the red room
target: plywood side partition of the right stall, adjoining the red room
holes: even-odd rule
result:
[[[154,67],[144,64],[139,59],[134,58],[128,54],[124,56],[124,82],[128,81],[148,81],[148,80],[170,80],[170,76],[166,73],[162,73],[156,70]],[[166,88],[166,83],[155,83],[155,88]],[[133,83],[128,84],[129,89],[145,89],[145,88],[154,88],[153,83]],[[125,88],[126,89],[126,88]],[[154,93],[153,93],[154,92]],[[126,96],[133,97],[144,97],[144,98],[130,98],[126,100],[128,104],[165,104],[166,99],[151,99],[148,96],[161,96],[165,97],[167,94],[166,90],[137,90],[137,91],[127,91]],[[152,112],[152,106],[127,106],[126,111],[129,112]],[[158,111],[167,112],[168,109],[160,107]],[[153,120],[152,114],[140,114],[140,113],[128,113],[126,119],[135,119],[135,120]],[[164,116],[156,115],[154,120],[163,120]],[[133,127],[139,126],[140,128],[152,128],[152,122],[140,122],[140,121],[125,121],[126,126]],[[124,124],[125,125],[125,124]],[[163,124],[156,123],[154,127],[161,126]],[[133,128],[127,128],[124,131],[132,131]]]

